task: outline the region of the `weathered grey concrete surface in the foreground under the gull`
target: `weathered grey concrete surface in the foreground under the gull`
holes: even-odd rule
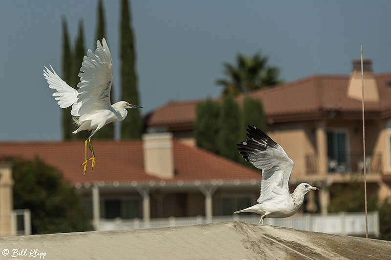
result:
[[[233,221],[5,237],[0,254],[6,260],[379,260],[391,259],[391,241]]]

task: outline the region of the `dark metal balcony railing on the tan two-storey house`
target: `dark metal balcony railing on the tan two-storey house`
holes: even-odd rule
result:
[[[329,173],[362,173],[364,167],[367,173],[380,173],[383,166],[383,155],[380,153],[366,155],[364,163],[363,155],[351,154],[344,160],[334,160],[327,158],[327,172]],[[317,155],[307,155],[305,157],[307,174],[320,172],[319,157]]]

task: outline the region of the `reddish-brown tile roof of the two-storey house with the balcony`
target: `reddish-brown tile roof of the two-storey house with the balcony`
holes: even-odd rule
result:
[[[379,102],[366,102],[368,112],[378,113],[378,116],[391,116],[391,73],[376,75],[377,86],[380,96]],[[314,75],[300,80],[294,80],[272,88],[243,94],[237,98],[239,103],[244,96],[250,95],[260,98],[266,116],[269,121],[312,119],[306,115],[314,115],[325,111],[338,110],[341,112],[361,111],[361,101],[348,98],[349,75]],[[198,100],[200,101],[200,100]],[[195,107],[197,102],[179,101],[170,102],[152,112],[148,126],[167,126],[170,124],[186,124],[193,129],[195,120]],[[279,117],[283,118],[279,119]],[[318,116],[324,116],[319,114]]]

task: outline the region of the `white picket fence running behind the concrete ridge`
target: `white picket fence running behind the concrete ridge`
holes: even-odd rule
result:
[[[105,220],[98,223],[98,230],[119,230],[132,228],[166,227],[166,226],[186,226],[206,224],[212,222],[243,221],[258,223],[259,215],[233,215],[216,216],[212,219],[205,217],[167,218],[151,219],[146,222],[140,219],[132,220]],[[284,219],[265,219],[265,224],[301,229],[306,231],[323,232],[336,235],[365,236],[365,213],[332,213],[328,215],[304,214],[298,217]],[[368,213],[368,235],[379,237],[379,214],[377,211]]]

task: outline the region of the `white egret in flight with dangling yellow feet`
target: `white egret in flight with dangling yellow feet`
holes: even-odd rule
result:
[[[72,106],[70,112],[73,120],[79,126],[72,134],[76,134],[83,130],[91,130],[91,135],[85,141],[86,160],[83,174],[87,170],[88,160],[92,160],[92,167],[95,165],[95,154],[92,147],[92,136],[103,126],[114,121],[122,121],[128,115],[127,108],[142,108],[141,106],[131,105],[126,101],[119,101],[111,105],[110,90],[113,81],[112,68],[113,62],[109,46],[105,38],[102,40],[103,46],[98,40],[96,42],[96,50],[93,53],[87,51],[87,56],[84,56],[82,67],[79,73],[80,82],[77,84],[78,90],[70,87],[65,83],[54,71],[52,66],[50,71],[45,67],[43,76],[49,83],[49,87],[56,90],[53,96],[58,100],[61,108]],[[92,152],[92,158],[87,159],[87,144]]]

